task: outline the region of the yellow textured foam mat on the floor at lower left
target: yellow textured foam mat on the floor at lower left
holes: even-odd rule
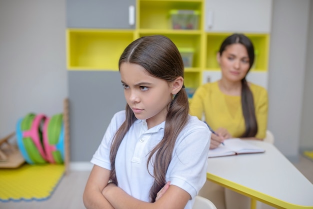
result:
[[[65,171],[63,164],[23,164],[16,169],[0,169],[0,200],[44,200]]]

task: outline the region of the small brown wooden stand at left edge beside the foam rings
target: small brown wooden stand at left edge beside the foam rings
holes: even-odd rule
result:
[[[25,162],[17,145],[8,142],[13,136],[15,132],[0,139],[0,168],[16,168]]]

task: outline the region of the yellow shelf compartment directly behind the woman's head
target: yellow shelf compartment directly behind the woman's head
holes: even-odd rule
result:
[[[216,55],[223,40],[232,33],[207,33],[206,34],[206,69],[219,68]],[[268,68],[268,34],[244,34],[254,46],[255,58],[251,71],[267,71]]]

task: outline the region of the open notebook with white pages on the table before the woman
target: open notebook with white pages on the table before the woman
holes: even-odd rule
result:
[[[249,154],[265,152],[263,148],[249,144],[242,139],[232,138],[224,140],[224,145],[220,144],[215,149],[208,151],[208,157],[221,157],[236,154]]]

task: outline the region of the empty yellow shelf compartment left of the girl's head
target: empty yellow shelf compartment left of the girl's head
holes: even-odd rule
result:
[[[134,40],[132,30],[66,30],[68,70],[118,70],[118,59]]]

